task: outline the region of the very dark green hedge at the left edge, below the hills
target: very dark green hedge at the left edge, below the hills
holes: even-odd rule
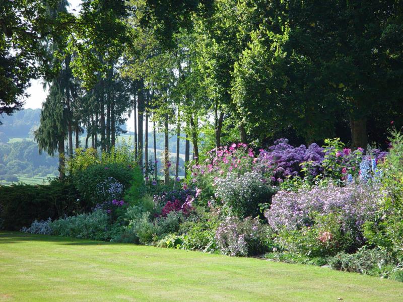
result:
[[[67,181],[0,186],[0,196],[0,228],[6,230],[20,230],[34,220],[72,215],[84,208],[79,193]]]

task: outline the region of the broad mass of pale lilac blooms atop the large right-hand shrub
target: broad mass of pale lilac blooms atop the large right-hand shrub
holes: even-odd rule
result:
[[[377,185],[315,186],[299,192],[278,192],[264,215],[275,231],[298,230],[315,223],[315,215],[337,214],[345,232],[359,232],[375,216],[380,200]]]

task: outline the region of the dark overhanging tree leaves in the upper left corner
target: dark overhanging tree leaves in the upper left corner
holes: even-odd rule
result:
[[[25,90],[31,79],[52,74],[49,41],[57,40],[65,25],[50,16],[55,1],[17,0],[3,2],[0,35],[0,114],[11,114],[23,107]]]

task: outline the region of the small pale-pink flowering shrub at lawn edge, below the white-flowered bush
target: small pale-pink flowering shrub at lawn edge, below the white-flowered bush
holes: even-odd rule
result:
[[[227,217],[216,232],[216,244],[221,253],[230,256],[253,256],[268,251],[271,232],[258,218]]]

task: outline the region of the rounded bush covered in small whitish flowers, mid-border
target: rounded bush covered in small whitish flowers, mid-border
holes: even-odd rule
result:
[[[268,184],[256,171],[241,176],[228,173],[226,178],[218,178],[215,183],[216,197],[237,217],[256,217],[259,203],[270,203],[276,189]]]

